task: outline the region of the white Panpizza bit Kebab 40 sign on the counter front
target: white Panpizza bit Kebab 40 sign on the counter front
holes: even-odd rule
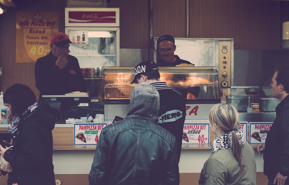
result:
[[[209,144],[209,123],[185,123],[182,144]]]

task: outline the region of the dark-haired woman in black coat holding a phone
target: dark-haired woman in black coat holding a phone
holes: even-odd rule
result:
[[[52,130],[55,119],[40,111],[34,92],[23,84],[10,86],[3,96],[8,111],[14,117],[8,126],[14,147],[0,145],[0,154],[12,165],[8,185],[55,185],[52,154]]]

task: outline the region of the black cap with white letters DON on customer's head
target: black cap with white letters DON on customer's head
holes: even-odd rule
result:
[[[142,61],[134,68],[134,79],[131,81],[131,84],[137,83],[136,79],[140,74],[145,74],[154,70],[159,70],[154,61]]]

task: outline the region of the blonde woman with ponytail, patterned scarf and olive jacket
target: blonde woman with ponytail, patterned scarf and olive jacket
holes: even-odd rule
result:
[[[203,166],[199,185],[256,185],[255,152],[245,141],[238,111],[230,104],[216,104],[209,120],[217,139],[212,142],[212,155]]]

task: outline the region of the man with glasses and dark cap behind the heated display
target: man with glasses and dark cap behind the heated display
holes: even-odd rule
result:
[[[163,35],[158,38],[158,51],[162,57],[157,61],[158,66],[176,66],[181,63],[192,64],[174,54],[176,45],[175,39],[171,35]]]

